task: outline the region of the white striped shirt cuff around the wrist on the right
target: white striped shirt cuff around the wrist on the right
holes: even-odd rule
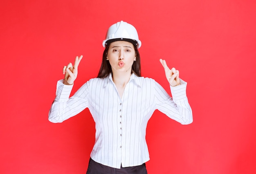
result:
[[[179,100],[186,98],[186,81],[180,79],[180,85],[178,86],[171,86],[171,94],[173,100]]]

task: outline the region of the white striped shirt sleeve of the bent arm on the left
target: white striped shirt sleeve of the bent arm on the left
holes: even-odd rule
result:
[[[88,107],[88,83],[70,97],[72,88],[73,85],[64,85],[63,80],[57,82],[56,97],[48,116],[52,123],[61,123]]]

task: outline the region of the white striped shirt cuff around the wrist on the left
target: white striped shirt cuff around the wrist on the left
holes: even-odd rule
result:
[[[74,84],[72,85],[64,85],[64,79],[57,81],[56,86],[56,98],[57,101],[67,101],[70,97],[70,93]]]

